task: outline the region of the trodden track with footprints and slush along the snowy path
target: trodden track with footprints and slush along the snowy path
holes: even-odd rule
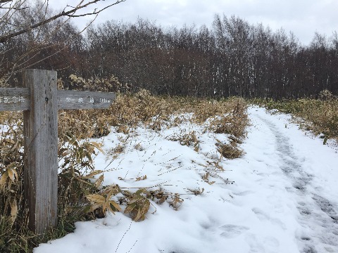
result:
[[[275,124],[271,115],[255,113],[255,110],[251,110],[251,119],[256,121],[256,124],[265,124],[268,127],[275,140],[272,145],[275,149],[273,153],[278,156],[279,167],[292,182],[292,187],[285,186],[285,188],[299,212],[296,219],[301,225],[301,230],[296,239],[300,252],[338,252],[337,198],[328,199],[322,191],[325,186],[313,181],[316,176],[319,176],[315,171],[321,168],[312,168],[309,163],[313,159],[310,157],[313,153],[307,154],[308,148],[311,147],[303,143],[302,152],[293,148],[294,141],[297,140],[290,139],[287,131],[283,132],[281,129],[282,127],[285,129],[285,126]],[[320,158],[323,159],[318,157]],[[324,167],[324,164],[322,166]],[[338,169],[338,164],[335,169]]]

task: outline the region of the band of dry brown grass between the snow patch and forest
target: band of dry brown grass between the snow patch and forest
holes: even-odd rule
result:
[[[120,94],[108,110],[64,110],[59,115],[60,136],[71,132],[78,138],[100,137],[108,134],[110,126],[118,126],[120,132],[144,124],[158,131],[171,115],[192,112],[195,123],[204,124],[210,119],[208,131],[245,136],[249,122],[246,102],[242,98],[206,100],[177,97],[151,96],[141,90],[135,95]],[[180,119],[175,119],[180,124]]]

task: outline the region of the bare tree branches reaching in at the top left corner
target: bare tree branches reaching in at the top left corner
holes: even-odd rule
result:
[[[73,18],[91,16],[94,21],[123,1],[77,0],[56,12],[49,0],[0,0],[0,78],[8,80],[24,68],[42,67],[68,51],[83,32],[72,25]]]

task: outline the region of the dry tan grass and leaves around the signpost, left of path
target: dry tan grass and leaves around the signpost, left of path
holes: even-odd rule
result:
[[[23,202],[23,113],[1,112],[0,124],[6,126],[1,131],[0,158],[0,252],[31,252],[41,242],[60,238],[74,230],[74,222],[103,216],[108,210],[119,212],[125,205],[125,214],[135,221],[144,219],[149,209],[149,199],[164,201],[177,209],[182,199],[174,193],[140,189],[130,193],[118,186],[102,187],[101,171],[94,171],[92,156],[100,150],[99,143],[85,141],[89,137],[107,135],[111,126],[128,134],[139,124],[154,131],[168,124],[180,124],[177,117],[170,122],[172,115],[192,113],[192,120],[198,124],[209,122],[208,131],[229,134],[239,142],[246,134],[249,122],[246,115],[246,103],[240,98],[213,101],[192,98],[163,98],[151,96],[148,91],[139,91],[134,95],[121,94],[108,110],[63,110],[58,115],[58,158],[61,173],[58,176],[58,228],[44,236],[34,235],[27,226],[27,211]],[[168,123],[170,122],[170,123]],[[193,145],[196,152],[199,141],[196,133],[176,136],[182,145]],[[237,143],[236,142],[236,143]],[[237,145],[233,150],[219,144],[219,152],[224,157],[238,157],[242,154]],[[136,147],[135,148],[142,148]],[[111,157],[123,153],[123,145],[111,150]],[[230,155],[229,155],[230,154]],[[94,178],[94,176],[96,177]],[[139,179],[143,180],[143,179]],[[120,202],[111,201],[111,197],[122,193]],[[168,200],[167,200],[168,199]]]

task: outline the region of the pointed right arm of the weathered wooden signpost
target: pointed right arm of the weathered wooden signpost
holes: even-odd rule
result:
[[[107,109],[113,100],[113,92],[58,91],[58,109]]]

